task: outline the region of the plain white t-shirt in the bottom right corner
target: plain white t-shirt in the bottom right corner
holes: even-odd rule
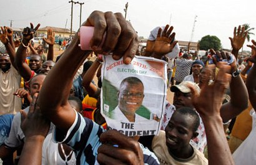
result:
[[[252,131],[232,155],[236,165],[256,164],[256,113],[254,109],[250,111],[250,115],[252,116]]]

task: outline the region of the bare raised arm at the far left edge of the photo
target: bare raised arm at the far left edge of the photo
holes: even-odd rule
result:
[[[4,44],[4,46],[6,47],[6,51],[9,54],[12,66],[16,68],[16,65],[14,64],[14,59],[16,56],[15,48],[13,49],[12,44],[10,42],[10,39],[12,39],[12,37],[9,37],[12,31],[9,29],[9,27],[6,27],[6,26],[1,27],[1,30],[2,30],[2,33],[0,32],[0,40],[2,44]]]

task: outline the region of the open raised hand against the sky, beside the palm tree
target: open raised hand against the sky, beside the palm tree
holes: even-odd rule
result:
[[[229,37],[232,45],[232,49],[234,50],[240,50],[242,46],[244,45],[245,39],[247,36],[247,31],[245,31],[245,27],[243,26],[241,29],[241,26],[237,29],[237,27],[234,27],[234,37]]]

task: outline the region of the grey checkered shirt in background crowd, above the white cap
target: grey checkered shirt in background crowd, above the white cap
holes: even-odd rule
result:
[[[186,59],[176,59],[175,64],[177,66],[174,80],[177,82],[182,82],[183,79],[189,75],[190,68],[192,66],[193,60],[186,60]]]

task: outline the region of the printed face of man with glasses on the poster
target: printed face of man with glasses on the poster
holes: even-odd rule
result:
[[[119,100],[119,108],[127,113],[135,113],[142,105],[144,98],[144,87],[142,83],[124,82],[117,93]]]

